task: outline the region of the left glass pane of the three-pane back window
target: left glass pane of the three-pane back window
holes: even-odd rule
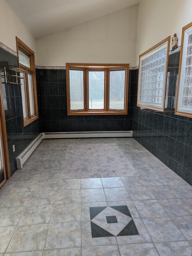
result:
[[[69,70],[70,109],[84,109],[84,70]]]

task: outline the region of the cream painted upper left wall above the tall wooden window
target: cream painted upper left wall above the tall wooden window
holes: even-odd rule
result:
[[[10,6],[0,0],[0,42],[16,52],[16,36],[36,52],[35,37]]]

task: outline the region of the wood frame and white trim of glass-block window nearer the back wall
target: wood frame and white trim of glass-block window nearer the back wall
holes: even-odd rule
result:
[[[163,82],[163,95],[162,95],[162,104],[158,106],[158,103],[152,103],[147,101],[140,101],[140,85],[141,85],[141,67],[142,60],[154,55],[158,50],[160,50],[164,45],[166,45],[166,55],[165,55],[165,66],[164,66],[164,82]],[[139,56],[139,73],[138,73],[138,91],[137,91],[137,107],[152,109],[155,111],[164,112],[165,108],[165,92],[166,92],[166,83],[167,83],[167,66],[169,58],[169,47],[170,47],[170,36],[154,45],[152,48],[144,52]],[[152,70],[153,68],[149,69]],[[157,73],[158,74],[158,73]],[[158,82],[158,81],[157,81]],[[156,97],[156,95],[155,95]],[[158,95],[157,95],[158,97]]]

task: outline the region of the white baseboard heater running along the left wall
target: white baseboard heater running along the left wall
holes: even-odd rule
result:
[[[35,148],[40,144],[44,139],[44,133],[40,133],[30,144],[29,146],[16,158],[17,169],[22,169],[23,164],[33,153]]]

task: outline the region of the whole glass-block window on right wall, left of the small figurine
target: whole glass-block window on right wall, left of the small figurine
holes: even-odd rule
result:
[[[137,106],[164,111],[169,41],[140,55]]]

